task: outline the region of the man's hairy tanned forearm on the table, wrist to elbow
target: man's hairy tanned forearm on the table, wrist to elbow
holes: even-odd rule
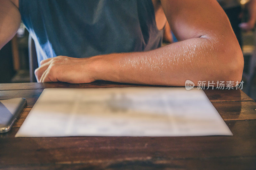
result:
[[[232,41],[192,38],[148,52],[95,56],[91,58],[92,76],[124,83],[173,86],[184,86],[188,79],[240,81],[242,52],[237,50],[236,43],[229,42]]]

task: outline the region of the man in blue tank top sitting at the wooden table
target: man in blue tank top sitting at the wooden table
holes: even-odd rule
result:
[[[0,0],[0,48],[21,18],[36,43],[39,82],[184,86],[242,78],[242,51],[216,0]],[[179,42],[160,48],[166,21]]]

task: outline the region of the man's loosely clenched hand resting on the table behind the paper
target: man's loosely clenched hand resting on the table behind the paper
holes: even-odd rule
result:
[[[90,58],[57,56],[41,61],[35,70],[38,82],[90,83],[95,81],[90,72]]]

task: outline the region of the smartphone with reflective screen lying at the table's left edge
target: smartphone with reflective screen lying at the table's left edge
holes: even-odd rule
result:
[[[12,128],[26,105],[27,100],[24,98],[0,98],[0,133],[8,132]]]

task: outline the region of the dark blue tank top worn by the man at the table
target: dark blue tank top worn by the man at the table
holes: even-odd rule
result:
[[[148,51],[161,46],[151,0],[20,0],[38,63],[66,55]]]

